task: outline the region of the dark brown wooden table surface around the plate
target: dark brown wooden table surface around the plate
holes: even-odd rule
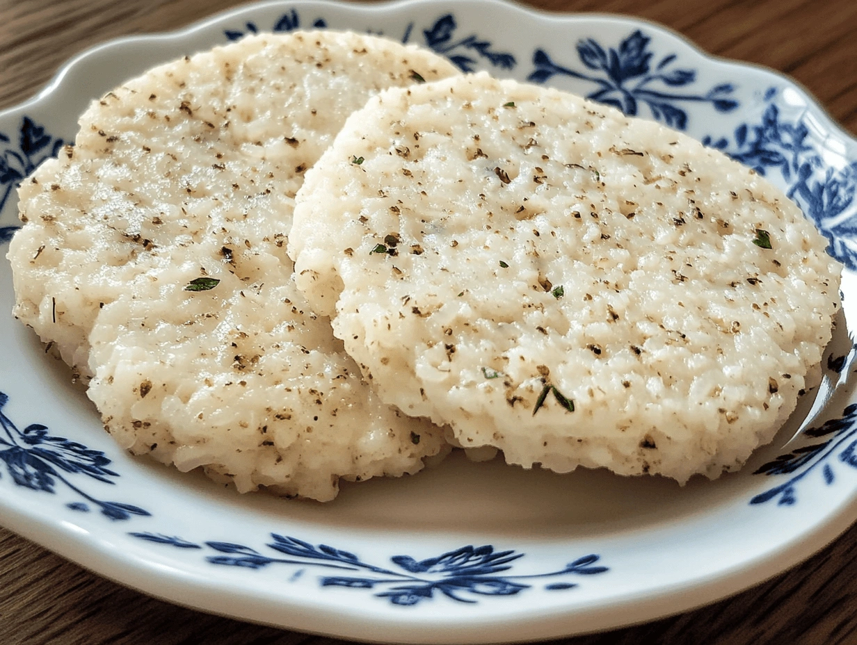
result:
[[[39,90],[77,52],[166,31],[234,0],[0,0],[0,109]],[[660,21],[706,51],[794,76],[857,132],[854,0],[537,0],[542,9]],[[153,600],[0,529],[0,643],[334,643]],[[712,606],[568,645],[857,643],[857,526],[794,570]]]

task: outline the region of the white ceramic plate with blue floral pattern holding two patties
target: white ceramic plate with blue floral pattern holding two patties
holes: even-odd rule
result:
[[[843,291],[854,291],[857,144],[793,81],[705,56],[649,23],[487,0],[257,4],[87,51],[0,115],[0,233],[8,239],[17,225],[16,182],[74,139],[90,99],[242,33],[312,26],[427,45],[463,69],[555,85],[684,129],[785,188],[830,238],[849,267]],[[346,484],[319,505],[240,497],[129,457],[31,331],[3,315],[0,333],[0,521],[99,574],[208,612],[371,641],[570,635],[732,594],[857,517],[850,391],[829,406],[834,421],[797,444],[815,447],[783,450],[784,428],[740,473],[714,482],[680,488],[452,457],[401,481]]]

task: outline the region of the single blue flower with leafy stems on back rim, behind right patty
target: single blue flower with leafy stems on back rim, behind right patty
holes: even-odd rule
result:
[[[691,85],[696,81],[696,70],[673,67],[675,54],[663,57],[652,70],[654,52],[649,51],[650,41],[639,29],[622,40],[617,49],[608,47],[605,50],[595,39],[579,40],[578,58],[584,67],[597,72],[596,75],[563,67],[554,63],[546,51],[537,49],[533,54],[536,69],[527,80],[543,83],[554,75],[566,75],[589,81],[596,84],[597,89],[588,94],[587,99],[613,105],[631,116],[638,114],[642,103],[658,121],[680,130],[687,128],[687,113],[676,103],[709,103],[718,112],[730,112],[738,107],[738,101],[730,97],[734,92],[731,83],[712,87],[704,94],[668,91],[668,87]]]

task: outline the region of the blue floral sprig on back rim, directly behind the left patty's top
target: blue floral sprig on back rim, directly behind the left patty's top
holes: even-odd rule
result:
[[[312,23],[313,27],[323,29],[327,27],[327,21],[324,18],[316,18]],[[301,26],[301,18],[295,9],[280,16],[279,20],[271,27],[274,33],[291,32]],[[414,31],[415,23],[411,22],[405,27],[405,33],[401,37],[403,43],[407,43],[411,39],[411,34]],[[472,72],[476,69],[476,63],[480,58],[488,61],[493,67],[499,69],[512,69],[517,61],[512,54],[491,49],[491,43],[488,40],[481,39],[476,34],[470,34],[462,39],[455,39],[455,30],[458,24],[455,21],[455,16],[452,14],[441,15],[434,24],[423,29],[423,45],[428,49],[446,56],[454,63],[458,69],[463,72]],[[226,29],[224,31],[226,38],[237,40],[247,35],[248,33],[259,33],[259,27],[255,22],[244,23],[244,30]],[[383,35],[383,32],[370,31],[376,35]]]

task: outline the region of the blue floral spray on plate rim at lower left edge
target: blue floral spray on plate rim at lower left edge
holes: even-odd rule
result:
[[[69,475],[87,475],[93,480],[105,484],[114,484],[110,477],[119,475],[108,469],[111,460],[104,452],[95,451],[76,441],[48,434],[45,426],[33,423],[23,430],[15,427],[8,416],[3,414],[3,406],[9,397],[0,392],[0,462],[6,464],[6,470],[12,481],[18,486],[43,493],[56,493],[57,481],[86,499],[89,504],[98,506],[101,513],[111,520],[127,520],[132,515],[148,516],[139,506],[120,502],[105,502],[85,493],[80,487],[69,481]],[[72,511],[89,511],[84,502],[67,504]]]

